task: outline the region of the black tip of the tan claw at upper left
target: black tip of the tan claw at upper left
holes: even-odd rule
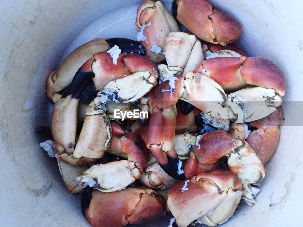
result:
[[[145,48],[138,41],[127,39],[127,38],[110,38],[106,42],[110,47],[117,45],[121,52],[144,54]]]

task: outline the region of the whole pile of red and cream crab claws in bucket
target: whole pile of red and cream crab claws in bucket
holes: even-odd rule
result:
[[[84,191],[94,227],[165,210],[170,226],[221,224],[241,198],[254,205],[252,185],[277,146],[279,68],[231,44],[241,25],[208,2],[177,0],[173,11],[146,0],[137,41],[94,39],[48,76],[51,126],[37,131],[51,138],[40,146],[57,157],[68,191]],[[117,109],[149,114],[122,121]]]

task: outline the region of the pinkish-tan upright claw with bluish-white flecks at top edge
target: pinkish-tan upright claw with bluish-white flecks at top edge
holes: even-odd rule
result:
[[[137,10],[137,40],[145,47],[146,55],[155,63],[165,60],[162,50],[165,37],[179,26],[160,1],[145,0]]]

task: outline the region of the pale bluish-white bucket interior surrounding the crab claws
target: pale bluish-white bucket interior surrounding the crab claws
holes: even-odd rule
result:
[[[162,1],[171,8],[171,1]],[[237,44],[270,59],[286,77],[285,122],[265,166],[254,207],[242,204],[224,226],[297,226],[302,220],[303,4],[300,1],[211,0],[241,22]],[[97,37],[135,39],[141,1],[2,1],[0,5],[0,226],[90,226],[81,195],[72,195],[57,162],[34,132],[49,125],[48,74],[76,47]],[[296,121],[298,119],[298,121]],[[167,226],[163,216],[135,226]]]

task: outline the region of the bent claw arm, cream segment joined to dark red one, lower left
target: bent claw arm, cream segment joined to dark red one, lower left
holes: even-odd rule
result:
[[[148,150],[132,132],[120,138],[120,146],[127,160],[94,165],[77,178],[79,184],[114,192],[135,182],[148,162]]]

